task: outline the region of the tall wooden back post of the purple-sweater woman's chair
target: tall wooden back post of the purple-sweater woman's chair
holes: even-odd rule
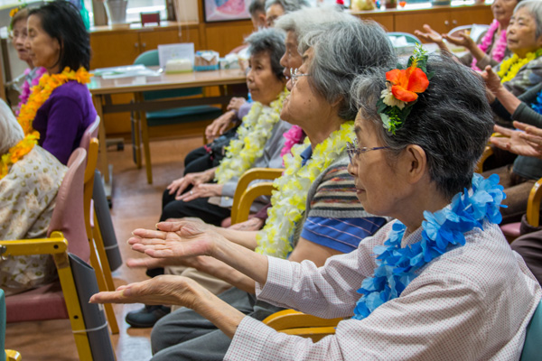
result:
[[[104,242],[99,232],[98,218],[94,212],[94,228],[90,227],[90,211],[92,204],[92,191],[94,190],[94,171],[98,162],[98,139],[92,138],[89,143],[89,153],[87,156],[87,166],[84,176],[83,205],[85,214],[85,228],[90,246],[90,264],[96,272],[99,291],[115,291],[115,283],[107,260]],[[107,321],[112,334],[118,333],[117,318],[113,305],[107,303],[104,305],[107,315]]]

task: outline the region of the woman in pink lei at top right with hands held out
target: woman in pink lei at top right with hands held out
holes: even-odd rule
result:
[[[479,43],[474,42],[467,32],[460,32],[457,36],[449,34],[441,35],[431,29],[427,24],[424,25],[424,32],[416,30],[414,33],[425,42],[435,42],[440,50],[447,55],[451,54],[451,51],[448,49],[444,39],[455,45],[463,46],[469,52],[459,58],[459,60],[472,69],[480,70],[488,65],[494,67],[510,55],[506,46],[506,29],[514,8],[518,3],[519,0],[493,1],[493,4],[491,4],[493,22],[488,31],[481,36]]]

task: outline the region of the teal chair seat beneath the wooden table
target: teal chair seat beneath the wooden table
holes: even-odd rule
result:
[[[146,113],[147,123],[149,126],[172,125],[189,123],[198,120],[210,120],[221,115],[222,109],[218,106],[185,106]]]

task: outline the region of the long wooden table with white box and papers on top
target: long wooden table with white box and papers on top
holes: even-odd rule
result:
[[[119,112],[149,112],[179,106],[200,106],[210,104],[227,105],[233,96],[246,96],[229,94],[229,85],[245,84],[245,73],[240,69],[194,71],[190,73],[165,74],[157,77],[129,77],[120,79],[102,79],[93,77],[89,84],[94,106],[98,116],[102,119],[99,125],[100,162],[104,172],[106,188],[111,184],[111,175],[107,164],[106,127],[104,114]],[[220,87],[219,97],[198,97],[175,100],[143,101],[142,93],[151,90],[167,90],[175,88]],[[126,104],[112,104],[111,95],[121,93],[134,94],[134,101]],[[110,193],[108,194],[110,195]]]

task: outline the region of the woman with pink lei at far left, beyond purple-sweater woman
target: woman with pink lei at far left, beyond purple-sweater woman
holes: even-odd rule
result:
[[[27,7],[17,7],[16,10],[12,10],[15,14],[12,17],[10,23],[10,37],[14,44],[14,48],[17,51],[17,56],[20,60],[23,60],[28,64],[28,69],[24,70],[24,82],[21,88],[21,95],[19,99],[19,105],[17,106],[17,114],[19,109],[23,104],[26,103],[28,97],[30,96],[30,89],[40,82],[42,75],[47,71],[42,67],[34,67],[33,62],[30,59],[30,54],[28,49],[24,47],[24,42],[26,42],[26,37],[28,32],[26,30],[26,20],[28,18],[28,8]]]

